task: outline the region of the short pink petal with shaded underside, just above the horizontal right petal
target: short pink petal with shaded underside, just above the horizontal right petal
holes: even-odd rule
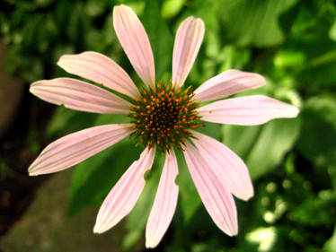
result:
[[[227,70],[201,84],[194,91],[195,99],[199,102],[223,99],[234,93],[259,88],[265,83],[260,74]]]

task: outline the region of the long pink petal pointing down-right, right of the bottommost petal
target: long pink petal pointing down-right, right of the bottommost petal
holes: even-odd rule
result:
[[[204,206],[220,230],[230,236],[236,235],[238,221],[233,196],[201,152],[190,143],[186,145],[184,157]]]

